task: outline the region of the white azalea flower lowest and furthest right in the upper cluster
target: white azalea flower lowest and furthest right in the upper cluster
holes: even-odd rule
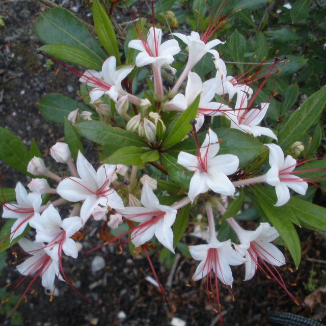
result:
[[[269,103],[261,103],[259,108],[249,110],[247,94],[238,92],[234,112],[227,111],[225,116],[231,120],[231,128],[253,134],[254,137],[266,135],[277,141],[273,131],[268,128],[257,126],[267,113]]]

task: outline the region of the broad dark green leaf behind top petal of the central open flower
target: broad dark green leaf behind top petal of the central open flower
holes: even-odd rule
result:
[[[246,166],[259,155],[267,151],[266,147],[252,135],[236,129],[215,128],[213,131],[218,135],[220,143],[220,154],[233,154],[239,158],[239,167]],[[204,142],[206,132],[198,134],[199,144]],[[180,144],[173,146],[168,153],[178,156],[180,151],[196,155],[196,144],[193,138],[188,138]]]

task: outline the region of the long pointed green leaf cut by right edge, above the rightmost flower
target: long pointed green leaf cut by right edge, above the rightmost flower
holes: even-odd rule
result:
[[[279,133],[279,145],[283,150],[288,149],[294,142],[301,139],[303,134],[320,116],[326,104],[326,86],[311,95],[290,116]]]

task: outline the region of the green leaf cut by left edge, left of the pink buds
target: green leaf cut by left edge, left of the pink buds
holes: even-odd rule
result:
[[[0,158],[17,171],[31,176],[27,172],[29,151],[14,133],[3,127],[0,127]]]

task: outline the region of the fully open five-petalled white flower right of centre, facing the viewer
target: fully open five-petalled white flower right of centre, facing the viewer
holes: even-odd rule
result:
[[[180,152],[178,163],[190,171],[195,171],[189,185],[188,197],[193,202],[199,194],[212,189],[215,193],[233,196],[235,188],[227,175],[236,172],[239,159],[232,154],[218,155],[220,150],[218,136],[211,129],[197,154]]]

